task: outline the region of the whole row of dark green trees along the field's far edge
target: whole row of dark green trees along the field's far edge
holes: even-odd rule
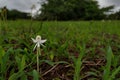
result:
[[[100,8],[96,0],[43,0],[36,20],[120,20],[120,11],[110,13],[114,6]],[[1,9],[1,16],[7,19],[31,19],[30,13]],[[6,15],[7,14],[7,15]]]

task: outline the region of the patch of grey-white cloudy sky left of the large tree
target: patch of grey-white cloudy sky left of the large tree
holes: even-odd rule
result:
[[[32,5],[36,6],[36,10],[40,8],[38,1],[39,0],[0,0],[0,7],[7,6],[8,9],[17,9],[23,12],[30,12]],[[36,10],[34,10],[34,12]]]

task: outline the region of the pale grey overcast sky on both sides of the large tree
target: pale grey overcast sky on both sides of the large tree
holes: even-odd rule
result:
[[[40,0],[0,0],[0,7],[7,6],[8,9],[17,9],[20,11],[30,12],[33,4],[36,5],[36,10],[40,8],[38,4]],[[101,7],[115,5],[115,9],[120,9],[120,0],[97,0]]]

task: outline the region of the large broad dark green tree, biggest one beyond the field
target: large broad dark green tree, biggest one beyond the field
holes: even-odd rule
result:
[[[100,9],[95,0],[46,0],[42,4],[41,20],[99,20],[111,8]]]

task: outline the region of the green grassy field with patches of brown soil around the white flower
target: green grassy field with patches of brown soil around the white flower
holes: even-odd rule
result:
[[[35,44],[40,47],[37,71]],[[0,80],[120,80],[120,21],[0,21]]]

